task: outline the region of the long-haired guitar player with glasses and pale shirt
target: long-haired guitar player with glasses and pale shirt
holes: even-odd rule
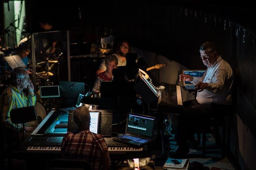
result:
[[[118,66],[126,66],[126,54],[129,52],[129,43],[128,41],[121,41],[118,43],[115,53],[113,54],[114,56],[117,57],[118,59]],[[105,60],[103,60],[99,66],[99,69],[96,71],[96,76],[99,76],[100,73],[103,71],[106,71],[106,66],[105,66]]]

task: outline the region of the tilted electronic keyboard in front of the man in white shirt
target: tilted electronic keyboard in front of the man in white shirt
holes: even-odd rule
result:
[[[161,113],[180,114],[183,112],[183,101],[181,86],[169,83],[160,83],[165,89],[161,90],[161,96],[158,98],[158,111]]]

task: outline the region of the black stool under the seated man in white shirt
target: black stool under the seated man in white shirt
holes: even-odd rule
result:
[[[204,118],[201,122],[201,130],[202,130],[202,157],[205,157],[206,149],[214,149],[219,147],[219,127],[222,127],[222,142],[221,142],[221,148],[222,148],[222,154],[221,157],[225,157],[226,153],[226,129],[227,129],[227,116],[232,113],[232,106],[226,106],[226,105],[219,105],[212,103],[213,110],[215,113],[218,113],[218,115],[212,118]],[[212,126],[215,128],[215,145],[206,145],[206,133],[209,129],[208,127]],[[197,144],[200,145],[200,134],[201,132],[198,131],[197,133]]]

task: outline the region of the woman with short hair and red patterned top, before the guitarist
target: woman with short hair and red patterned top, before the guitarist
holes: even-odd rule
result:
[[[104,62],[105,62],[106,71],[101,72],[97,77],[94,83],[93,92],[100,92],[101,82],[112,81],[112,77],[113,77],[112,70],[113,68],[117,68],[117,65],[118,65],[118,60],[115,55],[110,55],[106,57]]]

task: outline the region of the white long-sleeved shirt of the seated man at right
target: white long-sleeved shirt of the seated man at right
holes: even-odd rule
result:
[[[217,103],[230,105],[232,103],[231,90],[233,85],[233,71],[230,65],[222,59],[217,61],[205,71],[203,77],[194,77],[191,82],[207,83],[207,89],[197,93],[198,103]]]

